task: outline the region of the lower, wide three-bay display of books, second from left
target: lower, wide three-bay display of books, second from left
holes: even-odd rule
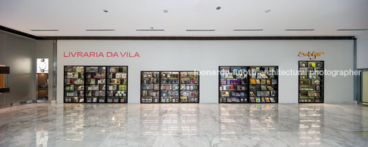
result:
[[[198,73],[141,71],[141,103],[199,103]]]

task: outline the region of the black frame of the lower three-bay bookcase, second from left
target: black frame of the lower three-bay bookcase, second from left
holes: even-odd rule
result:
[[[161,104],[172,104],[172,102],[170,102],[170,103],[162,103],[161,102],[161,84],[163,84],[162,82],[161,82],[161,79],[162,79],[162,76],[161,76],[161,73],[162,72],[179,72],[179,83],[178,83],[178,85],[179,85],[179,103],[182,103],[181,102],[181,72],[195,72],[195,71],[178,71],[178,70],[165,70],[165,71],[153,71],[153,70],[145,70],[145,71],[141,71],[141,90],[140,90],[140,101],[141,101],[141,103],[142,104],[157,104],[157,103],[143,103],[143,101],[142,101],[142,85],[143,85],[143,77],[142,77],[142,74],[143,74],[143,72],[159,72],[159,102],[158,103],[161,103]],[[200,102],[200,75],[199,75],[199,73],[198,73],[198,102],[185,102],[185,103],[199,103]],[[177,104],[177,103],[174,103],[174,104]]]

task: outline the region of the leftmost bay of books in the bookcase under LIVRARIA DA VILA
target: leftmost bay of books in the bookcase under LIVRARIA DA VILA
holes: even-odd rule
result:
[[[64,103],[84,103],[84,66],[65,66],[64,82]]]

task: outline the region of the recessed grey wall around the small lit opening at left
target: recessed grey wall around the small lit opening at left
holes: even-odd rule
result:
[[[53,40],[36,40],[36,48],[34,50],[34,62],[36,63],[36,59],[37,58],[48,58],[49,59],[49,88],[48,88],[48,95],[49,95],[49,100],[51,100],[51,98],[53,98],[53,79],[54,79],[54,75],[53,75],[53,59],[54,59],[54,55],[53,55]],[[36,83],[36,82],[35,82]],[[34,85],[34,86],[38,86],[38,85]]]

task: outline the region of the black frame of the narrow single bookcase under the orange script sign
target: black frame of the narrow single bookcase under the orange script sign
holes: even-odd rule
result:
[[[307,62],[307,67],[300,67],[301,62]],[[309,67],[309,62],[322,62],[322,67],[316,67],[316,68],[322,68],[323,71],[325,70],[325,61],[314,61],[314,60],[300,60],[300,61],[298,61],[298,70],[300,71],[300,68],[313,68],[313,67]],[[313,70],[314,70],[314,68],[313,68]],[[307,77],[309,79],[309,73],[308,73]],[[319,79],[320,82],[321,82],[319,84],[321,86],[321,89],[320,89],[321,96],[319,96],[319,97],[322,98],[322,101],[321,102],[316,102],[316,97],[317,96],[313,96],[314,97],[314,102],[301,102],[300,101],[300,97],[301,97],[300,92],[301,91],[317,91],[317,90],[315,90],[315,89],[314,90],[300,90],[300,75],[298,75],[298,103],[324,103],[325,102],[325,75],[324,74],[319,75],[319,77],[321,77],[321,79]],[[312,80],[312,79],[310,79],[310,80]],[[307,92],[307,94],[308,94],[308,92]],[[306,96],[306,97],[308,97],[308,96]]]

